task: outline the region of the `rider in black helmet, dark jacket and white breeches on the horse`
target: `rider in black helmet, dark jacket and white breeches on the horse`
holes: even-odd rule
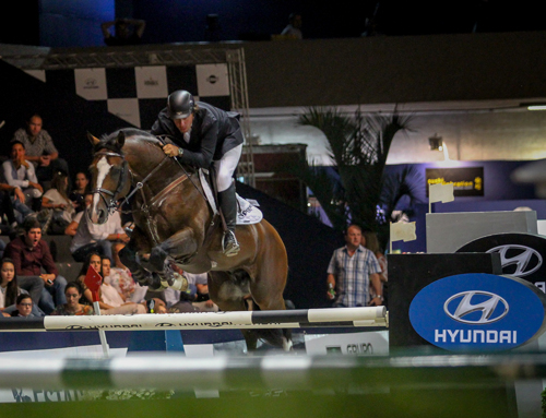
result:
[[[233,176],[244,141],[239,114],[195,101],[189,92],[178,89],[168,96],[167,107],[151,132],[170,136],[174,143],[163,147],[169,157],[206,169],[214,165],[218,203],[226,222],[222,248],[227,256],[236,255],[240,248],[235,237],[237,200]]]

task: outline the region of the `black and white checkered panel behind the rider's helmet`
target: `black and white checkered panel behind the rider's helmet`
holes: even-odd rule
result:
[[[169,93],[187,89],[195,99],[224,110],[230,109],[227,64],[150,65],[33,70],[31,75],[58,91],[73,92],[95,101],[99,109],[136,128],[152,128]]]

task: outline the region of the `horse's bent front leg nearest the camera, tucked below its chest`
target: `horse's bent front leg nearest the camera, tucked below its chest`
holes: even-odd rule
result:
[[[193,229],[186,227],[152,249],[150,265],[154,271],[162,272],[167,256],[175,260],[189,260],[197,251],[198,241]]]

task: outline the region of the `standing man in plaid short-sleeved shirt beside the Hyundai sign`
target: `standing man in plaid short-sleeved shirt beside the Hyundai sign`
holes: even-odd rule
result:
[[[383,304],[381,266],[373,252],[360,246],[363,231],[351,225],[345,232],[346,246],[334,251],[328,266],[327,283],[337,290],[334,307],[366,307]],[[370,282],[376,296],[370,300]],[[332,294],[328,294],[333,299]]]

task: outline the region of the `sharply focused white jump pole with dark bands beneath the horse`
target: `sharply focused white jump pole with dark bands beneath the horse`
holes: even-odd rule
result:
[[[388,326],[385,307],[0,319],[0,332]]]

